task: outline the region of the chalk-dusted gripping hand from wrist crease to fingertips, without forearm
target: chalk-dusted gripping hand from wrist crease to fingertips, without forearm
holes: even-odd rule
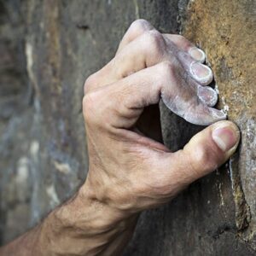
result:
[[[212,81],[212,71],[201,64],[204,59],[185,38],[163,35],[137,20],[113,60],[87,79],[84,118],[90,170],[84,188],[120,216],[170,201],[236,150],[239,131],[229,121],[207,127],[176,153],[139,129],[145,126],[143,111],[160,97],[195,124],[225,118],[209,107],[217,102],[217,94],[205,86]]]

